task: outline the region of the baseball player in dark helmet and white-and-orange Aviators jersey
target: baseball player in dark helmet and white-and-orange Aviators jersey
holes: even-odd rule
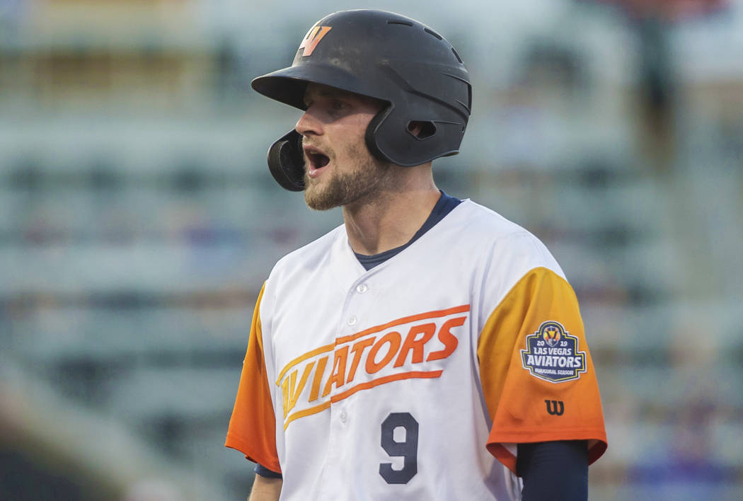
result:
[[[343,224],[256,304],[227,447],[250,500],[580,500],[606,450],[575,294],[542,242],[441,192],[467,69],[395,13],[319,20],[253,88],[303,111],[268,164]]]

